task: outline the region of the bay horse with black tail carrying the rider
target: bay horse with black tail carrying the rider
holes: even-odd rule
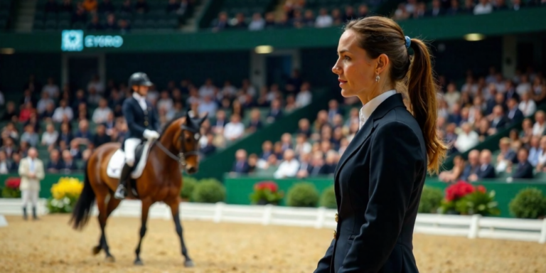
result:
[[[198,171],[198,137],[200,126],[206,117],[206,114],[204,117],[190,117],[190,113],[187,112],[186,117],[175,118],[166,124],[159,139],[154,141],[149,148],[146,167],[141,176],[132,180],[134,183],[128,183],[129,197],[134,197],[131,190],[134,188],[137,190],[138,198],[142,201],[140,239],[137,249],[134,251],[137,255],[134,264],[142,264],[140,250],[142,238],[146,234],[149,208],[153,203],[164,202],[171,208],[176,233],[180,238],[182,255],[185,258],[184,266],[193,267],[193,261],[188,255],[184,243],[178,213],[180,203],[178,196],[183,183],[180,165],[186,168],[187,173]],[[82,193],[77,200],[72,218],[70,218],[70,223],[75,230],[84,228],[96,199],[101,235],[98,245],[92,248],[92,253],[97,255],[101,250],[104,250],[109,262],[114,262],[114,257],[110,254],[106,241],[106,221],[121,200],[114,198],[113,194],[119,179],[110,178],[106,170],[110,158],[119,147],[119,143],[107,143],[93,151],[85,167]],[[136,161],[135,166],[137,164]]]

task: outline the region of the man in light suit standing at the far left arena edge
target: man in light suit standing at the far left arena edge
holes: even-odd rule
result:
[[[21,160],[19,164],[19,176],[21,176],[21,197],[23,198],[23,218],[26,220],[26,207],[30,201],[32,204],[32,216],[36,216],[36,204],[38,203],[38,193],[40,193],[40,181],[45,176],[43,163],[38,159],[38,151],[35,148],[28,149],[28,156]]]

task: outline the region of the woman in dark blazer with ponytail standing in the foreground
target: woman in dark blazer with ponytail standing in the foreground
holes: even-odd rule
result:
[[[315,273],[418,272],[419,198],[427,171],[437,172],[446,154],[427,45],[395,21],[370,16],[348,23],[338,55],[332,70],[341,95],[357,96],[363,107],[334,174],[337,227]]]

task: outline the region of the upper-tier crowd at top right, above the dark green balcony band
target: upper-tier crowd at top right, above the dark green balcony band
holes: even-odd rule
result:
[[[519,11],[530,6],[546,5],[545,0],[432,0],[427,6],[424,1],[408,0],[398,4],[392,17],[395,20],[417,19],[457,14],[491,14],[495,11]],[[464,3],[464,4],[463,4]]]

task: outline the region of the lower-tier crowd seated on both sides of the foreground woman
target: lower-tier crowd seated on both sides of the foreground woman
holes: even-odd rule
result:
[[[515,77],[506,79],[492,67],[488,75],[480,77],[469,72],[462,85],[439,77],[439,87],[438,134],[451,147],[449,154],[468,151],[487,137],[523,121],[521,132],[513,130],[510,138],[501,141],[492,177],[506,172],[513,173],[514,178],[530,178],[533,169],[546,171],[546,115],[537,111],[546,102],[546,81],[541,72],[528,68],[525,73],[518,70]],[[300,120],[294,137],[287,133],[279,141],[264,142],[261,154],[247,156],[246,151],[237,151],[232,171],[273,173],[276,178],[332,174],[359,129],[360,101],[350,97],[343,105],[355,107],[346,116],[344,109],[348,108],[332,100],[327,111],[319,112],[312,126],[309,120]],[[531,117],[535,117],[535,122]],[[476,152],[479,154],[471,152],[468,165],[459,156],[454,170],[442,173],[440,178],[444,181],[491,178],[491,168],[478,168],[485,163],[480,163]],[[491,151],[482,154],[482,161],[490,164]]]

